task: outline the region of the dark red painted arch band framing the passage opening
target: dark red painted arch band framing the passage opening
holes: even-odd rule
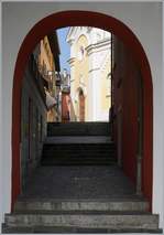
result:
[[[20,194],[20,130],[21,130],[21,85],[25,64],[36,43],[54,29],[64,26],[96,26],[116,34],[131,50],[143,78],[144,138],[142,190],[152,200],[152,157],[153,157],[153,86],[145,52],[133,32],[119,20],[97,12],[65,11],[51,14],[39,23],[25,36],[15,63],[12,97],[12,205]]]

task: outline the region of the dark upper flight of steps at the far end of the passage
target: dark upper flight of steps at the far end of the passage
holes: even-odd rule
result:
[[[47,133],[42,165],[116,164],[116,147],[107,122],[54,122],[48,124]]]

